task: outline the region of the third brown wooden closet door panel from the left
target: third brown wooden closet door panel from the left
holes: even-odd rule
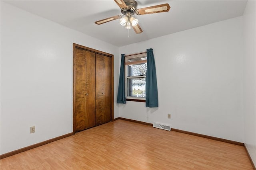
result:
[[[96,54],[96,125],[104,123],[104,56]]]

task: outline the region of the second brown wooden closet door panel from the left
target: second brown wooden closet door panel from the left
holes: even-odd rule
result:
[[[96,125],[95,117],[95,53],[86,53],[86,129]]]

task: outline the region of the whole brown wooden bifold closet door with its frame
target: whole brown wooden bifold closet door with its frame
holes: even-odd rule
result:
[[[73,44],[73,133],[113,119],[113,55]]]

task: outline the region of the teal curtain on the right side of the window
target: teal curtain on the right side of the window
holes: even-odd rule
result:
[[[158,107],[156,65],[153,49],[147,49],[146,107]]]

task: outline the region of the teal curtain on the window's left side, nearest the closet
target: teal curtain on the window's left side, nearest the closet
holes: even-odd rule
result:
[[[124,54],[122,54],[122,57],[121,57],[119,85],[118,85],[116,103],[123,103],[123,104],[126,103],[126,98],[125,98],[125,75],[124,75]]]

